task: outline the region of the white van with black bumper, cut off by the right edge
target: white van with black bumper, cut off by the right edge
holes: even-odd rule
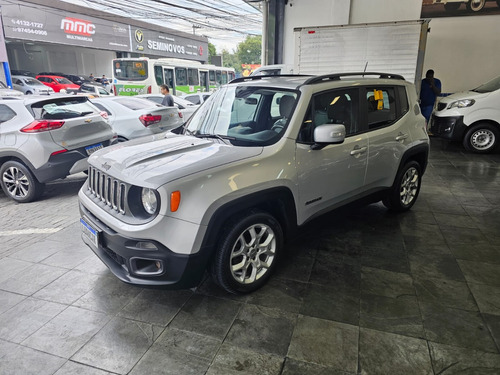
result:
[[[468,151],[492,152],[500,139],[500,76],[470,91],[442,98],[431,116],[433,135],[460,141]]]

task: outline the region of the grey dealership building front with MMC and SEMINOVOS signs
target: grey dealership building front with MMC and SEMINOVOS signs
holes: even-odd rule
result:
[[[0,7],[0,57],[10,69],[109,77],[116,57],[208,61],[203,36],[61,1],[0,0]]]

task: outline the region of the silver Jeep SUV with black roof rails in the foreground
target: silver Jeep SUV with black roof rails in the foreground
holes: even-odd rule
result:
[[[251,292],[312,218],[367,197],[410,209],[428,152],[401,76],[237,79],[182,128],[89,158],[82,237],[127,283],[187,288],[208,270]]]

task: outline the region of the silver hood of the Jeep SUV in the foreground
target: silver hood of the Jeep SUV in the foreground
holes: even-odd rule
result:
[[[169,132],[107,147],[94,153],[89,164],[124,182],[157,188],[180,177],[257,156],[262,150]]]

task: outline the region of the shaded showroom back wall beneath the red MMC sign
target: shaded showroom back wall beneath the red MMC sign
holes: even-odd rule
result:
[[[25,69],[33,73],[43,71],[67,74],[94,73],[111,77],[112,51],[62,46],[54,44],[7,43],[11,69]]]

